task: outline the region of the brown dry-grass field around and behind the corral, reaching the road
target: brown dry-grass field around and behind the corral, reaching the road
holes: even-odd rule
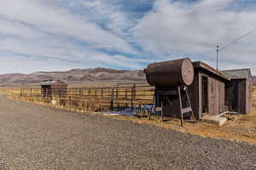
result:
[[[77,89],[77,90],[75,90]],[[7,94],[9,98],[12,99],[22,99],[26,101],[32,101],[34,103],[38,103],[41,105],[49,105],[54,106],[55,108],[65,108],[71,111],[81,111],[81,112],[90,112],[91,111],[102,111],[108,113],[109,110],[109,101],[111,98],[107,99],[96,99],[96,96],[117,96],[117,92],[119,97],[113,102],[115,106],[129,106],[135,105],[138,106],[147,104],[147,102],[152,102],[153,92],[152,89],[149,88],[137,88],[136,98],[133,100],[133,104],[131,104],[132,98],[132,90],[124,90],[126,88],[120,88],[118,90],[106,90],[102,92],[101,88],[96,88],[96,90],[88,89],[82,92],[82,96],[84,98],[78,98],[81,96],[78,91],[79,88],[73,88],[65,97],[65,105],[60,105],[61,99],[55,98],[57,100],[56,105],[52,105],[49,103],[49,99],[42,99],[41,91],[39,88],[34,88],[34,91],[26,91],[26,95],[20,95],[20,88],[0,88],[1,94]],[[131,88],[129,88],[131,89]],[[89,95],[94,94],[94,95]],[[112,94],[113,93],[113,94]],[[256,95],[256,87],[253,87],[253,95]],[[126,96],[126,98],[124,97]],[[125,104],[126,102],[126,104]],[[106,104],[107,103],[107,104]],[[106,104],[105,107],[103,104]],[[256,104],[256,97],[253,97],[253,105]],[[250,115],[228,115],[229,122],[224,124],[222,127],[218,127],[217,125],[212,125],[206,122],[185,122],[184,127],[180,127],[180,121],[176,118],[166,117],[166,122],[160,122],[160,119],[157,117],[153,117],[151,120],[148,120],[147,117],[137,118],[135,116],[112,116],[115,119],[137,122],[141,124],[153,124],[158,127],[164,127],[167,129],[176,130],[183,133],[190,133],[194,135],[200,135],[203,137],[210,137],[216,139],[229,139],[233,141],[247,142],[250,144],[256,144],[256,109],[254,108]]]

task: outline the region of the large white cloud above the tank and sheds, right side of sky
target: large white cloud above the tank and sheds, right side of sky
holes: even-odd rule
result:
[[[138,41],[160,59],[173,54],[214,59],[216,45],[220,47],[256,28],[256,13],[230,10],[231,0],[204,0],[198,3],[174,3],[158,0],[154,10],[146,14],[134,28]],[[220,62],[240,62],[253,67],[256,63],[254,34],[220,53]],[[197,59],[197,58],[196,58]],[[231,68],[232,65],[225,66]],[[254,68],[254,71],[255,68]]]

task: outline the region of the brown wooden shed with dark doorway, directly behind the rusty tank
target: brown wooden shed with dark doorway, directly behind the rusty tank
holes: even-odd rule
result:
[[[213,69],[204,62],[193,62],[195,77],[193,83],[188,87],[189,98],[195,117],[218,116],[227,111],[225,108],[225,82],[230,77]],[[182,94],[183,103],[186,103],[186,96]],[[179,116],[179,101],[177,96],[168,96],[169,101],[163,105],[165,116]],[[169,105],[172,103],[172,105]],[[188,106],[188,105],[187,105]],[[184,105],[186,107],[186,105]]]

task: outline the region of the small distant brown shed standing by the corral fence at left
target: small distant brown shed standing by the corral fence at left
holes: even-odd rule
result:
[[[41,84],[41,94],[44,98],[64,97],[67,94],[67,84],[60,80],[44,80]]]

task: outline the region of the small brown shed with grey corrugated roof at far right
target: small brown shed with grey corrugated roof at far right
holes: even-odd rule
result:
[[[229,111],[248,114],[253,107],[253,77],[250,69],[222,71],[231,78],[226,82],[225,105]]]

